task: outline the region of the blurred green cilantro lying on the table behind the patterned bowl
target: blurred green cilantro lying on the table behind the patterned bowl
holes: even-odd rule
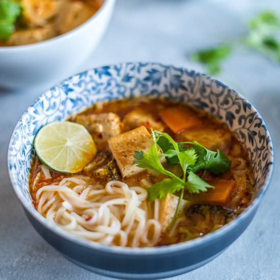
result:
[[[280,19],[274,12],[265,11],[248,22],[248,35],[236,42],[242,42],[271,61],[280,63],[280,41],[277,39],[279,34]],[[229,57],[236,42],[198,50],[191,54],[191,59],[204,64],[209,74],[217,74],[221,70],[221,63]]]

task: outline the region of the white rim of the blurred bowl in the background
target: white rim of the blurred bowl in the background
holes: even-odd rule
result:
[[[74,29],[60,34],[58,36],[52,37],[50,39],[44,40],[44,41],[40,41],[40,42],[36,42],[36,43],[32,43],[32,44],[26,44],[26,45],[18,45],[18,46],[0,46],[0,53],[1,52],[12,52],[12,51],[25,51],[28,49],[35,49],[35,48],[40,48],[42,47],[48,47],[50,44],[55,43],[55,41],[63,41],[66,40],[70,37],[75,36],[76,33],[78,33],[81,29],[85,28],[86,26],[88,26],[89,24],[91,24],[93,21],[96,20],[96,18],[99,17],[100,14],[103,13],[104,10],[106,10],[106,8],[111,4],[115,5],[115,1],[116,0],[103,0],[103,3],[101,3],[100,8],[96,11],[96,13],[94,13],[89,19],[87,19],[85,22],[83,22],[82,24],[78,25],[77,27],[75,27]]]

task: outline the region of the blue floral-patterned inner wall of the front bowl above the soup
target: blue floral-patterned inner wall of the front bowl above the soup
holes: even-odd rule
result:
[[[67,119],[96,101],[149,96],[186,103],[215,116],[237,135],[256,177],[256,195],[269,180],[273,149],[258,111],[223,83],[195,71],[155,63],[104,66],[70,77],[41,95],[18,121],[11,137],[8,166],[20,200],[29,202],[33,140],[45,124]],[[32,211],[35,211],[33,209]]]

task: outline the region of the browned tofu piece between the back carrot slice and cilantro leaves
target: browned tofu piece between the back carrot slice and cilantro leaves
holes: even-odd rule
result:
[[[210,150],[227,152],[231,144],[231,134],[223,129],[191,128],[181,133],[185,141],[197,141]]]

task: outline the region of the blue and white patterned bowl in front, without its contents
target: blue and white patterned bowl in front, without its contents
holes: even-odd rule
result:
[[[70,235],[33,207],[28,177],[33,140],[45,124],[65,120],[96,101],[137,96],[190,104],[227,124],[246,148],[256,177],[256,195],[235,220],[207,236],[157,248],[109,247]],[[218,256],[247,228],[267,189],[273,166],[268,129],[258,111],[223,83],[192,70],[157,63],[104,66],[70,77],[41,95],[23,113],[9,145],[8,165],[15,193],[39,234],[72,262],[119,278],[150,279],[178,275]]]

